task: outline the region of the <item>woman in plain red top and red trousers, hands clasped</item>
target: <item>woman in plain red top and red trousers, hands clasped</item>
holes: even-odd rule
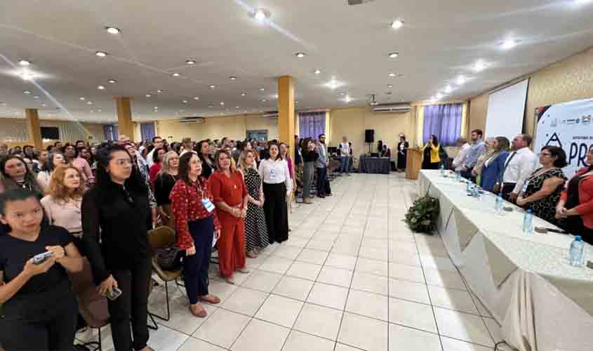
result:
[[[234,284],[233,272],[248,273],[245,267],[245,216],[247,213],[247,187],[241,173],[231,162],[226,150],[218,150],[215,157],[216,171],[208,179],[216,214],[222,232],[218,239],[218,265],[220,275]]]

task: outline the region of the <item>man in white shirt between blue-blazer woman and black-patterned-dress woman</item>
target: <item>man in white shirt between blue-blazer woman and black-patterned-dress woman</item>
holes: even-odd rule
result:
[[[533,138],[528,134],[519,134],[513,139],[514,151],[509,154],[502,169],[502,197],[508,201],[517,200],[525,180],[538,167],[538,156],[529,150],[531,140]]]

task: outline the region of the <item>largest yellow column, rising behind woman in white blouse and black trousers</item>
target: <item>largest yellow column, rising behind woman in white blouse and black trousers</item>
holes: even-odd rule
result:
[[[293,77],[278,79],[278,136],[291,147],[291,157],[295,158],[295,88]]]

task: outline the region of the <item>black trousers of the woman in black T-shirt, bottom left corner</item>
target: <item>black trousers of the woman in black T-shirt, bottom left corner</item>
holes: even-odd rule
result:
[[[32,305],[37,305],[34,316],[19,317],[13,315],[15,313],[10,308],[5,319],[0,319],[1,347],[5,351],[74,350],[78,317],[74,294],[53,297],[34,295],[31,298],[30,303],[23,300],[28,307],[19,310],[30,310]]]

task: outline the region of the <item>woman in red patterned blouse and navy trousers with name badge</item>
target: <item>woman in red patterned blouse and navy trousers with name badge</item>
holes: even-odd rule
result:
[[[220,237],[220,223],[208,190],[201,176],[202,163],[194,152],[186,152],[179,160],[179,180],[171,190],[171,207],[177,227],[178,246],[185,250],[183,271],[189,312],[199,318],[207,313],[201,301],[220,303],[208,293],[208,266],[213,236]]]

